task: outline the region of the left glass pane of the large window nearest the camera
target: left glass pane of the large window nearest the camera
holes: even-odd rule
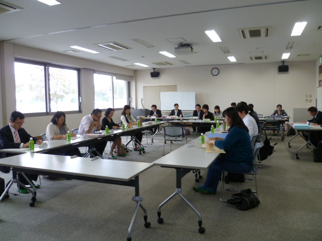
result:
[[[44,66],[15,62],[16,108],[23,113],[46,112]]]

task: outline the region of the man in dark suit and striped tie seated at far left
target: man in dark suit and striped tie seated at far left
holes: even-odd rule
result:
[[[19,111],[14,111],[10,116],[10,123],[8,126],[0,129],[0,150],[1,149],[12,149],[12,148],[29,148],[30,138],[34,140],[36,144],[42,144],[43,141],[38,140],[30,136],[25,129],[22,128],[22,125],[25,121],[25,115]],[[0,153],[0,158],[14,156],[10,153]],[[0,166],[0,171],[4,173],[9,173],[10,169],[8,167]],[[38,175],[35,174],[26,174],[30,180],[37,181]],[[21,183],[29,185],[27,180],[23,177],[22,174],[18,174],[18,179]],[[39,187],[39,186],[37,186]],[[27,189],[18,187],[21,193],[27,193]]]

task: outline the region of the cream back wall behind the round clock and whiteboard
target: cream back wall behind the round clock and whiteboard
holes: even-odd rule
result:
[[[289,62],[287,73],[278,73],[278,65],[281,63],[158,69],[160,76],[156,79],[150,77],[151,70],[137,70],[136,105],[143,97],[143,86],[176,84],[177,91],[195,91],[196,102],[208,104],[211,111],[215,105],[223,110],[231,102],[246,101],[263,115],[272,114],[276,105],[281,104],[292,117],[293,107],[315,106],[315,61]],[[213,67],[219,69],[219,75],[211,75]],[[306,94],[312,95],[311,103],[304,102]]]

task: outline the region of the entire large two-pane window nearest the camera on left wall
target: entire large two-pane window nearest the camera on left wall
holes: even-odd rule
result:
[[[16,109],[23,113],[80,112],[79,69],[16,60]]]

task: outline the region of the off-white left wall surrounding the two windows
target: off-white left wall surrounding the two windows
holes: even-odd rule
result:
[[[9,123],[10,114],[16,110],[16,87],[15,87],[15,72],[14,61],[15,57],[26,59],[34,59],[69,65],[82,68],[81,69],[81,91],[83,100],[83,113],[67,114],[66,123],[69,129],[78,128],[83,116],[89,114],[94,109],[94,69],[117,74],[134,76],[134,70],[121,68],[118,66],[103,64],[86,59],[75,58],[68,55],[51,53],[43,50],[37,50],[18,46],[10,43],[0,42],[1,51],[1,69],[2,69],[2,99],[3,111],[0,119],[3,120],[3,125]],[[134,88],[135,89],[135,88]],[[109,107],[109,106],[107,106]],[[22,110],[23,112],[23,110]],[[115,122],[118,122],[121,117],[121,111],[115,111],[113,117]],[[104,113],[103,113],[104,115]],[[40,136],[46,132],[46,127],[50,123],[52,116],[37,116],[26,117],[24,128],[32,136]],[[1,127],[2,127],[1,126]]]

